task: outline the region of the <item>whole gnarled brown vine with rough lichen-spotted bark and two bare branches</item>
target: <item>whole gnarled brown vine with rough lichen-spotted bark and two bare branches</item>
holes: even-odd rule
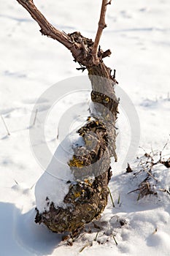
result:
[[[36,222],[44,223],[53,232],[75,232],[85,223],[96,218],[107,206],[108,183],[112,176],[110,157],[115,157],[115,121],[118,101],[115,97],[115,72],[108,68],[103,59],[111,54],[98,48],[102,30],[106,26],[106,0],[102,1],[101,17],[95,42],[83,37],[80,32],[65,34],[55,29],[34,5],[32,0],[17,0],[39,23],[41,33],[61,42],[72,52],[80,69],[88,69],[92,85],[91,99],[95,110],[90,111],[87,124],[79,129],[85,147],[74,148],[74,156],[68,162],[77,182],[70,182],[69,193],[64,198],[65,208],[56,207],[47,198],[50,210],[42,213],[36,209]],[[90,145],[90,146],[89,146]],[[90,148],[93,147],[93,151]],[[87,177],[94,177],[93,180]],[[56,195],[57,196],[57,195]]]

